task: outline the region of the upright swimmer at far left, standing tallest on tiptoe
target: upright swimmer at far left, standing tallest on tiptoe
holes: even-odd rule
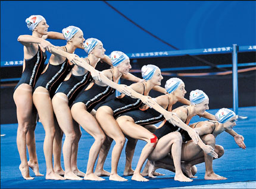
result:
[[[36,81],[43,71],[46,60],[45,50],[52,46],[45,39],[64,39],[61,33],[48,32],[49,25],[41,15],[32,15],[26,19],[27,27],[32,30],[32,36],[18,36],[18,41],[24,45],[23,73],[14,88],[14,102],[17,108],[17,148],[20,154],[19,166],[24,179],[32,180],[29,167],[36,176],[43,176],[39,172],[38,157],[36,155],[35,127],[37,112],[33,106],[32,91]],[[27,144],[27,145],[26,145]],[[26,146],[29,151],[27,162]]]

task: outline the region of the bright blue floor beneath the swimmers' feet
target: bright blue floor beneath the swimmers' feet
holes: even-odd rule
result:
[[[216,113],[217,110],[209,110],[210,113]],[[193,185],[207,185],[207,184],[224,184],[231,182],[246,182],[256,181],[256,107],[239,108],[239,115],[248,116],[246,120],[238,120],[237,126],[234,130],[242,134],[245,138],[246,150],[239,148],[233,137],[227,133],[221,133],[216,143],[225,149],[224,155],[220,159],[213,162],[213,168],[216,174],[227,177],[223,181],[204,180],[205,167],[204,164],[196,165],[198,178],[193,179],[192,182],[174,181],[174,173],[165,169],[158,169],[163,176],[152,178],[148,182],[132,181],[129,177],[126,182],[110,181],[108,177],[104,177],[105,181],[52,181],[45,180],[45,177],[35,177],[34,180],[24,180],[18,169],[20,165],[20,158],[18,155],[16,145],[17,124],[2,124],[1,134],[6,134],[1,137],[1,188],[170,188],[170,187],[185,187]],[[191,123],[203,118],[194,117]],[[44,130],[42,124],[38,123],[36,127],[36,148],[38,153],[39,168],[42,174],[46,173],[45,159],[43,155],[43,140]],[[78,167],[80,171],[86,172],[86,165],[88,159],[88,152],[90,145],[92,145],[93,138],[82,129],[82,138],[79,143]],[[133,169],[135,169],[138,162],[141,149],[145,142],[139,141],[136,146],[135,156],[133,158]],[[111,146],[111,149],[113,145]],[[120,162],[118,164],[118,174],[123,175],[125,163],[124,150],[121,153]],[[63,157],[62,157],[62,165]],[[104,169],[111,171],[111,150],[107,156]],[[30,175],[34,177],[33,171],[30,169]]]

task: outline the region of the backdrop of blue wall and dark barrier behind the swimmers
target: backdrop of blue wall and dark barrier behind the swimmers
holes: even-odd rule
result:
[[[145,53],[232,44],[255,46],[255,7],[255,1],[1,1],[1,124],[17,123],[13,89],[18,81],[13,78],[20,78],[22,71],[20,65],[2,64],[23,60],[23,46],[17,38],[21,34],[31,34],[25,20],[32,14],[46,18],[48,31],[61,32],[68,25],[81,28],[85,39],[95,37],[101,40],[106,55],[110,55],[113,50]],[[65,45],[64,40],[49,41],[57,46]],[[77,49],[76,54],[86,56],[82,49]],[[166,72],[172,75],[164,76],[161,86],[164,87],[166,80],[176,73],[232,70],[231,67],[214,66],[231,65],[231,53],[131,58],[133,71],[149,63],[164,69],[207,66],[205,62],[210,63],[211,69]],[[255,52],[238,53],[238,63],[255,62]],[[99,70],[107,68],[104,64],[97,66]],[[238,69],[243,68],[248,66]],[[141,77],[140,73],[133,73]],[[210,98],[210,109],[232,108],[232,74],[179,78],[185,82],[186,98],[193,89],[202,89]],[[255,106],[255,78],[255,71],[238,73],[239,107]],[[131,84],[127,81],[121,83]],[[152,91],[150,95],[159,94]]]

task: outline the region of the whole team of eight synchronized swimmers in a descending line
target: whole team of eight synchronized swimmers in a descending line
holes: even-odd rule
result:
[[[117,174],[125,137],[128,142],[124,175],[132,175],[132,180],[149,181],[145,176],[163,175],[155,170],[165,168],[175,172],[174,180],[191,182],[196,178],[195,165],[202,162],[205,162],[205,180],[227,179],[213,171],[213,159],[224,154],[223,147],[216,145],[217,135],[225,131],[234,137],[240,148],[246,149],[243,136],[233,130],[236,125],[233,111],[221,108],[215,116],[207,113],[208,96],[196,89],[187,100],[185,84],[179,78],[168,79],[162,88],[163,76],[158,66],[142,66],[143,79],[132,75],[130,59],[125,53],[114,51],[108,57],[102,42],[95,38],[85,40],[79,27],[70,25],[62,33],[48,31],[49,25],[42,15],[31,15],[26,24],[32,35],[18,37],[24,46],[24,63],[13,94],[18,120],[19,169],[25,180],[33,180],[29,167],[36,176],[43,176],[36,155],[38,116],[45,129],[46,180],[102,181],[105,180],[102,176],[108,176],[109,180],[127,181]],[[67,44],[57,47],[46,39],[66,40]],[[84,49],[88,56],[81,58],[74,54],[77,48]],[[51,57],[44,66],[46,50]],[[97,71],[95,67],[99,62],[107,63],[110,69]],[[120,78],[134,83],[119,84]],[[152,98],[149,96],[151,89],[164,95]],[[119,97],[113,97],[115,90],[121,93]],[[185,105],[172,110],[178,101]],[[208,120],[189,125],[196,115]],[[154,125],[161,121],[160,126]],[[95,139],[94,143],[87,144],[90,150],[85,173],[77,168],[82,137],[80,126]],[[111,172],[108,172],[103,166],[113,140]],[[132,159],[138,140],[144,140],[146,145],[133,171]],[[146,159],[148,162],[141,173]]]

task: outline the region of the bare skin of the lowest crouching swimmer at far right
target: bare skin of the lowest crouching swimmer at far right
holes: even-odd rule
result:
[[[205,180],[226,180],[226,177],[222,177],[217,175],[213,171],[213,159],[220,158],[224,154],[224,149],[220,145],[215,144],[215,138],[218,134],[223,131],[230,132],[233,130],[233,127],[236,126],[236,117],[230,118],[226,123],[218,123],[216,122],[216,127],[214,123],[211,121],[200,121],[198,123],[193,123],[190,125],[196,132],[201,136],[202,141],[211,145],[214,148],[214,151],[217,153],[217,157],[213,157],[203,152],[198,145],[194,145],[191,141],[187,143],[183,143],[182,145],[182,161],[185,161],[182,164],[182,169],[190,178],[196,178],[193,176],[195,172],[192,172],[193,165],[200,164],[205,162]],[[196,126],[196,127],[195,127]],[[243,136],[240,134],[236,134],[234,136],[235,142],[242,149],[246,149],[245,143],[243,142]],[[170,171],[175,171],[173,169],[173,163],[170,157],[166,157],[157,161],[152,165],[152,171],[156,168],[166,168]]]

